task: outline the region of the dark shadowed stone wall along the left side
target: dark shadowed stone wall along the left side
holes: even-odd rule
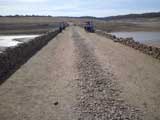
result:
[[[0,82],[6,79],[8,74],[25,63],[32,55],[46,45],[60,31],[55,29],[42,36],[36,37],[27,43],[9,47],[0,52]]]

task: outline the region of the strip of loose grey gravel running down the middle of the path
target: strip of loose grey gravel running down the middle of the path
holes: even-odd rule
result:
[[[77,111],[79,120],[141,120],[142,112],[120,98],[114,75],[98,63],[94,50],[73,29],[77,69],[79,70]]]

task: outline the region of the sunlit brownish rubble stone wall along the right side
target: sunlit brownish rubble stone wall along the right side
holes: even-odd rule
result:
[[[132,47],[136,50],[139,50],[145,54],[148,54],[148,55],[160,60],[160,48],[142,44],[140,42],[135,41],[133,38],[118,38],[115,35],[109,34],[107,32],[101,31],[101,30],[96,30],[96,33],[99,35],[103,35],[103,36],[113,40],[114,42],[118,42],[118,43],[127,45],[129,47]]]

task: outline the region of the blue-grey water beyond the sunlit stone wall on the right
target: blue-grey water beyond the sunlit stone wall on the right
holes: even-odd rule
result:
[[[160,43],[160,32],[113,32],[117,37],[133,37],[135,41],[142,43]]]

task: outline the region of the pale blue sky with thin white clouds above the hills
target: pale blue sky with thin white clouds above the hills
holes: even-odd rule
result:
[[[0,15],[107,17],[160,12],[160,0],[0,0]]]

